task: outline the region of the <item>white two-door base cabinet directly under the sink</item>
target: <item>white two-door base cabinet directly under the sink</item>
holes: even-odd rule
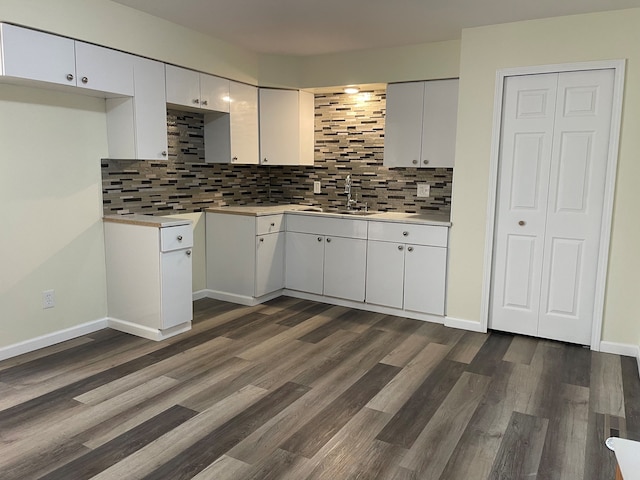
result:
[[[286,241],[287,289],[364,301],[365,220],[290,215]]]

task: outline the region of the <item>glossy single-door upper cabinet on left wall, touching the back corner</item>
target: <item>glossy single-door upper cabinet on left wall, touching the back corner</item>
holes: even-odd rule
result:
[[[205,118],[205,161],[258,164],[258,88],[229,82],[229,113]]]

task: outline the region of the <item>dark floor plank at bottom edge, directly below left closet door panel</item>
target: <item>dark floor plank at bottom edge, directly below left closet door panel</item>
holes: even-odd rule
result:
[[[546,418],[513,412],[488,478],[536,478],[548,424]]]

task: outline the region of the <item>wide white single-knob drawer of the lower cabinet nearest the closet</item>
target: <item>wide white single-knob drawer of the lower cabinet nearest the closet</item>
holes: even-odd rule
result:
[[[448,236],[448,227],[414,225],[409,223],[369,222],[369,240],[446,247]]]

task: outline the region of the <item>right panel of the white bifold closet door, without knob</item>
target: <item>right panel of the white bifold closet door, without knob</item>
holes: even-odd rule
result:
[[[558,79],[538,335],[587,345],[600,247],[613,70]]]

